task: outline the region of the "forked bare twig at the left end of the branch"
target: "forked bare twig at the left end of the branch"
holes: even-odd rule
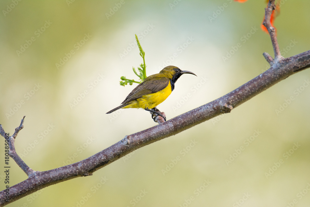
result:
[[[32,173],[34,173],[35,171],[31,168],[29,168],[29,166],[20,158],[20,156],[17,155],[16,151],[15,151],[15,138],[17,136],[17,134],[19,133],[19,131],[24,128],[24,118],[21,120],[20,122],[20,126],[15,128],[15,132],[12,136],[9,136],[9,155],[11,158],[13,158],[13,160],[16,162],[16,164],[28,175],[28,177],[30,175],[32,175]],[[7,137],[6,133],[4,132],[4,129],[2,128],[2,125],[0,124],[0,133],[2,135],[2,137]]]

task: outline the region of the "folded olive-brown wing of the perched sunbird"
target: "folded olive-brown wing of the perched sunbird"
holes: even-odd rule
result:
[[[158,75],[158,74],[156,74]],[[156,93],[163,90],[169,84],[169,79],[166,77],[154,77],[153,75],[148,76],[142,83],[135,87],[122,102],[122,104],[128,103],[129,101],[140,98],[144,95]]]

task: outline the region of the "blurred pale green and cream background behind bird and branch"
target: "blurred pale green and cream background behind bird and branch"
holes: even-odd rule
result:
[[[136,86],[119,85],[121,76],[137,79],[135,34],[147,75],[175,65],[198,76],[182,76],[158,106],[170,119],[268,69],[262,53],[273,50],[260,29],[265,6],[265,0],[3,0],[0,123],[12,134],[26,115],[15,146],[34,170],[83,160],[156,125],[141,109],[105,114]],[[275,26],[284,57],[309,50],[309,7],[308,0],[281,0]],[[299,72],[230,114],[8,206],[308,206],[309,75]],[[4,162],[4,141],[0,149]],[[10,166],[11,186],[27,178],[12,159]]]

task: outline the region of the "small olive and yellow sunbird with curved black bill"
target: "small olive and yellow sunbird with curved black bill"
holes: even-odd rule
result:
[[[162,116],[166,121],[166,117],[159,113],[160,111],[156,106],[166,100],[173,91],[177,79],[185,73],[196,75],[190,71],[182,71],[172,65],[165,67],[158,74],[150,75],[144,79],[128,94],[121,106],[108,111],[107,114],[121,108],[143,108],[157,114],[157,116]],[[152,117],[155,120],[157,116]]]

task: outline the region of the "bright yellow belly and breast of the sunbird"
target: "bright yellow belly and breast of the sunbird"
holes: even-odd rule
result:
[[[166,100],[166,98],[171,94],[171,85],[170,81],[166,88],[156,93],[151,93],[144,95],[136,100],[131,101],[131,103],[123,108],[143,108],[143,109],[152,109],[158,104]]]

